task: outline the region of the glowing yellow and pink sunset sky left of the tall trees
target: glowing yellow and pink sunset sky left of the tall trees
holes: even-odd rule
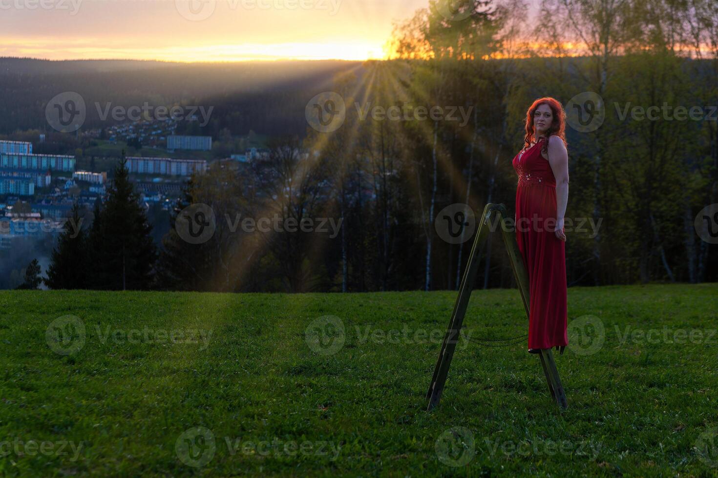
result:
[[[0,0],[0,56],[382,58],[392,22],[427,5],[428,0]]]

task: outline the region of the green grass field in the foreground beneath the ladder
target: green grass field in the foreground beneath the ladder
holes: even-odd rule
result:
[[[424,411],[455,297],[0,292],[0,474],[718,473],[718,285],[569,289],[563,412],[525,344],[466,340]],[[518,292],[465,325],[525,333]]]

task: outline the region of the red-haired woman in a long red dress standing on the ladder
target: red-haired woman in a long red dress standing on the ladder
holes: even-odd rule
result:
[[[516,242],[528,272],[531,302],[528,351],[568,345],[566,233],[569,199],[566,113],[551,97],[533,102],[526,113],[524,147],[514,158]]]

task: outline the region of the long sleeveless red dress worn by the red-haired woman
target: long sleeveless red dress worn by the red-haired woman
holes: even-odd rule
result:
[[[528,272],[528,348],[569,343],[565,242],[556,237],[556,178],[541,156],[545,138],[513,158],[516,242]],[[521,160],[519,156],[521,155]]]

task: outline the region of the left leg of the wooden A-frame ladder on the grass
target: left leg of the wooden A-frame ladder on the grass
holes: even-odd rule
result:
[[[444,391],[444,384],[447,381],[449,375],[449,366],[451,365],[452,358],[454,357],[454,350],[456,350],[456,344],[459,340],[459,331],[466,315],[466,307],[469,305],[469,299],[471,297],[471,290],[474,287],[474,277],[479,266],[479,249],[481,244],[486,239],[489,233],[489,225],[491,216],[493,215],[493,204],[487,204],[484,208],[482,216],[480,218],[480,226],[477,231],[476,238],[474,239],[474,245],[471,248],[471,254],[467,262],[467,267],[464,272],[464,276],[461,280],[459,287],[459,296],[454,303],[454,310],[452,312],[451,320],[449,320],[449,328],[447,329],[446,335],[444,335],[444,342],[442,343],[442,349],[439,352],[439,358],[437,365],[434,366],[434,374],[432,376],[432,382],[429,384],[429,390],[426,391],[426,411],[430,411],[432,408],[437,406],[439,400],[442,398],[442,392]]]

